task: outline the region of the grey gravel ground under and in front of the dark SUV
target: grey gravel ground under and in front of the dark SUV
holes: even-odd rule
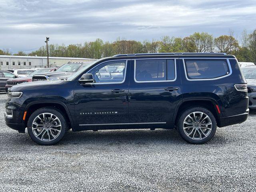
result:
[[[4,123],[0,94],[0,191],[256,191],[256,112],[218,128],[203,145],[176,130],[68,132],[39,146]]]

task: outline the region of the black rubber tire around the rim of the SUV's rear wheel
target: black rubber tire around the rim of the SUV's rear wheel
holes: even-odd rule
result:
[[[186,116],[188,116],[188,114],[190,114],[192,112],[196,112],[196,111],[205,113],[206,115],[209,116],[210,120],[212,121],[212,131],[206,138],[204,138],[202,140],[193,140],[193,139],[189,138],[185,134],[184,129],[183,129],[183,122],[184,122]],[[217,129],[217,123],[216,123],[216,119],[215,119],[214,115],[208,109],[203,108],[203,107],[193,107],[193,108],[190,108],[190,109],[184,111],[178,121],[178,132],[179,132],[180,136],[184,140],[186,140],[187,142],[192,143],[192,144],[204,144],[204,143],[208,142],[214,136],[216,129]]]

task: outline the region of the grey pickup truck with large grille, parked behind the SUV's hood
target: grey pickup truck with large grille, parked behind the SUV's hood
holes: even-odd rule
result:
[[[60,68],[58,68],[53,73],[44,73],[42,75],[34,75],[32,81],[44,81],[44,80],[64,80],[77,72],[78,70],[89,66],[90,62],[69,62]]]

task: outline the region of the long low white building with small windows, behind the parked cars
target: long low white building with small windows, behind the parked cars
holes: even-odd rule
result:
[[[94,60],[96,59],[49,57],[49,67],[61,66],[68,62],[93,62]],[[20,68],[45,68],[46,66],[47,57],[0,55],[1,70]]]

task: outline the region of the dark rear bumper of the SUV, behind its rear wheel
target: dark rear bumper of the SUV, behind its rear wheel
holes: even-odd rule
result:
[[[249,109],[246,110],[243,114],[228,116],[228,117],[222,117],[220,118],[220,123],[218,127],[225,127],[228,125],[234,125],[238,123],[245,122],[249,115]]]

